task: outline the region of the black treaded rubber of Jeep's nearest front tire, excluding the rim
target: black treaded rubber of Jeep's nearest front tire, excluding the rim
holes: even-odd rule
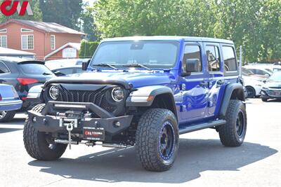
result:
[[[174,113],[168,109],[148,109],[138,123],[138,128],[136,131],[136,154],[138,159],[141,161],[143,167],[149,171],[162,172],[168,170],[171,165],[164,165],[158,158],[158,149],[155,146],[155,141],[157,141],[157,134],[159,134],[159,119],[164,116],[172,116],[174,123],[177,124],[176,117]],[[175,137],[178,139],[178,125],[176,125]],[[176,140],[175,140],[176,141]],[[178,143],[178,140],[176,141]],[[175,145],[178,149],[178,144]],[[176,154],[176,153],[175,153]]]

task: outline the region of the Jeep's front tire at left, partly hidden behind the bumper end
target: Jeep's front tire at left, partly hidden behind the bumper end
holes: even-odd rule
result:
[[[41,111],[45,108],[45,104],[34,106],[32,111]],[[23,129],[23,141],[27,153],[37,160],[57,160],[65,152],[66,144],[50,144],[47,141],[47,134],[36,130],[31,121],[25,120]]]

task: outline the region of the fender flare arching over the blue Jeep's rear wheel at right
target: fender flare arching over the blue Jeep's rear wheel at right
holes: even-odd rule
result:
[[[240,83],[230,83],[226,85],[223,93],[223,100],[221,101],[221,108],[219,111],[219,116],[226,116],[226,110],[228,109],[228,104],[230,102],[231,96],[235,92],[236,97],[241,101],[245,101],[243,85]]]

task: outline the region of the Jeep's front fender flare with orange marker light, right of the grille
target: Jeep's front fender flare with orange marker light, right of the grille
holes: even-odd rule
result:
[[[169,95],[172,101],[173,112],[176,116],[176,103],[171,88],[164,85],[149,85],[131,92],[126,99],[126,106],[151,106],[158,95]]]

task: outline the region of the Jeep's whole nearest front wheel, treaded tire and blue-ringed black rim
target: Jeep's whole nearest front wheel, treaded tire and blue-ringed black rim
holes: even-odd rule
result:
[[[143,167],[150,171],[168,170],[178,152],[178,122],[167,109],[148,109],[136,130],[136,153]]]

